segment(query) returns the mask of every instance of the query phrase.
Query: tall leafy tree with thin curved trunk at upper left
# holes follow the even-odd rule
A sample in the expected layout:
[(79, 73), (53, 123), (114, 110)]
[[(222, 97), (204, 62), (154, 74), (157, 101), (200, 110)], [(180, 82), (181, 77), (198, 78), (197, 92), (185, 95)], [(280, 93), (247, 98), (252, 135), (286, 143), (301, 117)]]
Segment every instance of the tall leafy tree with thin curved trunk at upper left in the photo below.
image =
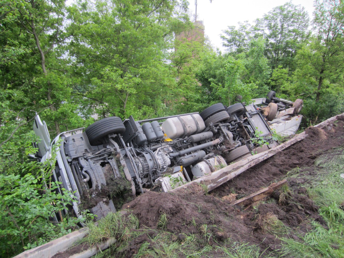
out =
[[(67, 102), (71, 88), (63, 44), (71, 31), (64, 1), (6, 0), (2, 4), (7, 11), (1, 16), (0, 28), (1, 90), (11, 101), (12, 95), (6, 92), (14, 90), (22, 96), (11, 108), (22, 110), (21, 119), (44, 109), (41, 117), (54, 133), (61, 125), (76, 124), (76, 107)], [(64, 120), (66, 109), (71, 110), (68, 121)]]

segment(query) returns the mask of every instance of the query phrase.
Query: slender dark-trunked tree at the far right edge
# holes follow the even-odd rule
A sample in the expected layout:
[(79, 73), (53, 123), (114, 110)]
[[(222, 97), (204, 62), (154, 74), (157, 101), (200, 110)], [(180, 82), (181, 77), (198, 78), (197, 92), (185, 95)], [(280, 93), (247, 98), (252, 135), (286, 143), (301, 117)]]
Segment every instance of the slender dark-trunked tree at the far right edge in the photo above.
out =
[(289, 91), (302, 96), (308, 123), (324, 120), (344, 111), (343, 107), (343, 4), (337, 0), (315, 2), (315, 33), (295, 60), (298, 68)]

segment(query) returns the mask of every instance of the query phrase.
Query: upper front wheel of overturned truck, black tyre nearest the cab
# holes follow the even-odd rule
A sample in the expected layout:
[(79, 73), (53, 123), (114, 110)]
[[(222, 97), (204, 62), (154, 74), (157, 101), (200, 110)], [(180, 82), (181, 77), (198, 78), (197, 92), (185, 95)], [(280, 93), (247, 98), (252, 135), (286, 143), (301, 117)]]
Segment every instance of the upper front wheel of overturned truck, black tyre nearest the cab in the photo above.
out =
[(107, 117), (101, 119), (86, 128), (85, 133), (89, 143), (93, 146), (99, 145), (101, 138), (111, 133), (123, 133), (126, 131), (122, 119), (119, 117)]

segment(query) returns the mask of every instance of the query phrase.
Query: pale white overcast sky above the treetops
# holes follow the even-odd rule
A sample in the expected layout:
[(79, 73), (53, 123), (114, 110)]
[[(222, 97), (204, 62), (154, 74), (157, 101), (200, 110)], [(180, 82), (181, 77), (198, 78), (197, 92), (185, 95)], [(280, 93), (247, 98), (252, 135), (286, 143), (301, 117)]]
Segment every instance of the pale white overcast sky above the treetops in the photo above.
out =
[[(308, 11), (310, 18), (313, 13), (314, 0), (292, 0), (295, 5), (301, 4)], [(195, 13), (195, 0), (189, 0), (189, 9)], [(237, 26), (238, 22), (249, 21), (253, 23), (261, 18), (272, 8), (281, 6), (288, 0), (197, 0), (197, 20), (203, 20), (205, 34), (209, 37), (212, 45), (218, 47), (222, 52), (222, 40), (220, 34), (227, 26)]]

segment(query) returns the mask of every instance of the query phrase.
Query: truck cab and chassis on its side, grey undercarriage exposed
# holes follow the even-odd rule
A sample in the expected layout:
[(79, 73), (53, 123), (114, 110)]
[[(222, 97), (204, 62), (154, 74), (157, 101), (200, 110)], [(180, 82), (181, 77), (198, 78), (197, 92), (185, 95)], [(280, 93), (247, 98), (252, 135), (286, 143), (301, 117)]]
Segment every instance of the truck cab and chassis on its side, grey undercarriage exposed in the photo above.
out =
[(36, 143), (37, 157), (48, 160), (58, 142), (53, 180), (60, 182), (61, 194), (63, 188), (74, 194), (74, 201), (53, 219), (61, 221), (67, 213), (80, 217), (84, 209), (100, 219), (116, 210), (121, 196), (167, 192), (276, 146), (262, 113), (242, 103), (217, 103), (201, 113), (148, 120), (108, 117), (85, 130), (63, 132), (52, 142), (45, 122), (36, 116), (34, 131), (42, 139)]

